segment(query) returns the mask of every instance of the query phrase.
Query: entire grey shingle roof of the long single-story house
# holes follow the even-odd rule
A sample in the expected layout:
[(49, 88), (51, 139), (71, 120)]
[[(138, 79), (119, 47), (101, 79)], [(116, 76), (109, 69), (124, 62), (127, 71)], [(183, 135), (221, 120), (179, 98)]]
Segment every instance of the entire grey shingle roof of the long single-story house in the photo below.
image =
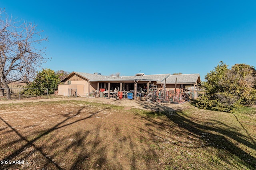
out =
[(141, 75), (141, 76), (103, 76), (99, 74), (90, 74), (84, 72), (72, 72), (66, 78), (61, 80), (64, 82), (70, 76), (78, 74), (83, 78), (89, 80), (90, 82), (99, 82), (99, 81), (156, 81), (157, 83), (164, 83), (164, 78), (166, 78), (166, 84), (175, 84), (175, 78), (177, 77), (177, 83), (182, 84), (197, 84), (201, 82), (199, 74), (152, 74), (152, 75)]

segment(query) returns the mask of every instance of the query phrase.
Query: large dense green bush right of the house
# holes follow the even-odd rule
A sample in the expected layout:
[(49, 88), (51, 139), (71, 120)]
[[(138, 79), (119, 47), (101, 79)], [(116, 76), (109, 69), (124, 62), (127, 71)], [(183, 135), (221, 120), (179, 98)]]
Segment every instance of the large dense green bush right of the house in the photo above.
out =
[(196, 104), (199, 108), (232, 112), (256, 101), (256, 70), (247, 64), (232, 68), (222, 61), (206, 75), (205, 95)]

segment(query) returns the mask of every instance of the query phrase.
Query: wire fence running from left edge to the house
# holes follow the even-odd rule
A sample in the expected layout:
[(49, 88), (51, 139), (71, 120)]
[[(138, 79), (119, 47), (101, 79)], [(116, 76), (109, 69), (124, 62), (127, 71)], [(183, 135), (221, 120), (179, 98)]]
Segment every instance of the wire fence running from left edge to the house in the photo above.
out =
[[(6, 88), (0, 88), (0, 98), (6, 97)], [(9, 88), (12, 99), (34, 98), (60, 98), (60, 97), (77, 97), (76, 88)], [(62, 95), (58, 95), (58, 90), (62, 90)], [(3, 91), (3, 92), (2, 92)]]

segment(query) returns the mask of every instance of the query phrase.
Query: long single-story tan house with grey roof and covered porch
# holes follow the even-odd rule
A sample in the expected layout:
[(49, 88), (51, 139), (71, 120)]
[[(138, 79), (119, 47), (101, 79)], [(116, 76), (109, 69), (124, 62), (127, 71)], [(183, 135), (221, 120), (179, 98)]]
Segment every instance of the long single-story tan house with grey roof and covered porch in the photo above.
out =
[[(115, 88), (119, 91), (134, 90), (149, 92), (152, 88), (159, 90), (163, 84), (166, 84), (166, 90), (183, 90), (185, 86), (198, 86), (201, 83), (199, 74), (135, 74), (134, 76), (103, 76), (100, 73), (72, 72), (58, 84), (58, 94), (63, 96), (90, 96), (94, 90), (104, 89), (110, 91)], [(136, 98), (136, 95), (134, 96)]]

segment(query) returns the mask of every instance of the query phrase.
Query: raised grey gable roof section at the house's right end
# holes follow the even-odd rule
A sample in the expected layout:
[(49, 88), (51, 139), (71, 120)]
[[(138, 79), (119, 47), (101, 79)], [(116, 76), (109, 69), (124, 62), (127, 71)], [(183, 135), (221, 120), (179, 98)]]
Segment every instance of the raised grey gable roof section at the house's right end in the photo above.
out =
[[(178, 84), (198, 84), (201, 83), (200, 74), (176, 74), (166, 78), (166, 84), (175, 84), (177, 77)], [(160, 82), (164, 83), (164, 79)]]

